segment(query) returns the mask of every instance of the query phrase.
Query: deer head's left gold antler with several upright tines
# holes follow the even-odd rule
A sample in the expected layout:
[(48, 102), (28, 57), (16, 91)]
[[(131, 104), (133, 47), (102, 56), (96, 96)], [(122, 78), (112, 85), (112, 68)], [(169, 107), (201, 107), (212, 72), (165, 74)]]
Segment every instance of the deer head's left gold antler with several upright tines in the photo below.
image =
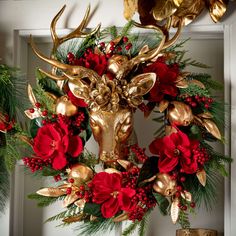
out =
[[(71, 33), (69, 33), (68, 35), (59, 38), (58, 35), (56, 34), (56, 23), (58, 21), (58, 19), (60, 18), (60, 16), (62, 15), (62, 13), (65, 10), (65, 5), (62, 7), (62, 9), (57, 13), (57, 15), (53, 18), (52, 23), (51, 23), (51, 35), (52, 35), (52, 39), (53, 39), (53, 49), (52, 49), (52, 53), (51, 53), (51, 58), (48, 58), (47, 56), (44, 56), (41, 52), (39, 52), (39, 50), (36, 48), (34, 42), (33, 42), (33, 38), (30, 35), (30, 44), (31, 47), (34, 51), (34, 53), (43, 61), (47, 62), (48, 64), (50, 64), (51, 66), (53, 66), (54, 68), (58, 68), (63, 70), (64, 72), (66, 72), (67, 74), (72, 74), (72, 75), (77, 75), (80, 78), (83, 77), (89, 77), (91, 79), (91, 81), (96, 81), (97, 79), (100, 79), (100, 76), (93, 70), (87, 69), (85, 67), (82, 66), (72, 66), (72, 65), (68, 65), (68, 64), (64, 64), (58, 60), (56, 60), (53, 56), (53, 54), (56, 52), (58, 46), (62, 43), (64, 43), (65, 41), (72, 39), (72, 38), (85, 38), (88, 36), (92, 36), (94, 34), (96, 34), (101, 25), (99, 24), (94, 30), (92, 30), (89, 33), (85, 33), (82, 30), (84, 29), (84, 27), (86, 26), (86, 24), (88, 23), (88, 17), (89, 17), (89, 12), (90, 12), (90, 6), (88, 6), (85, 16), (81, 22), (81, 24)], [(40, 69), (41, 72), (43, 72), (44, 74), (46, 74), (47, 76), (49, 76), (50, 78), (52, 78), (53, 80), (66, 80), (68, 79), (68, 77), (66, 76), (58, 76), (56, 75), (56, 73), (49, 73), (46, 72), (42, 69)], [(70, 80), (70, 78), (69, 78)]]

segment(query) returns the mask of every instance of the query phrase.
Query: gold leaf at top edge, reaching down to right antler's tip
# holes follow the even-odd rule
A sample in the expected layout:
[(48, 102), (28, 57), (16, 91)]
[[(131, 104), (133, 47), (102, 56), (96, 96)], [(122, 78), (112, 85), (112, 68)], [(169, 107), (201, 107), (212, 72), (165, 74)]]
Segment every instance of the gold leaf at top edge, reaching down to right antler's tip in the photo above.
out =
[(205, 8), (204, 0), (183, 0), (172, 17), (172, 25), (177, 27), (181, 18), (184, 25), (191, 23)]

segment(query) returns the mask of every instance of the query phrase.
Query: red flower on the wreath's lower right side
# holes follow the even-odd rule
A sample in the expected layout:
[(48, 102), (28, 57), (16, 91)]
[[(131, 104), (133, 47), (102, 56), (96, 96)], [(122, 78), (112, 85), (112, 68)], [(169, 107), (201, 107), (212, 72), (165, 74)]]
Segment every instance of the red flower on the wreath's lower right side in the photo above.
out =
[(159, 155), (158, 168), (160, 172), (170, 172), (180, 164), (181, 172), (196, 173), (198, 164), (192, 150), (199, 146), (198, 141), (190, 141), (181, 131), (164, 138), (155, 139), (149, 146), (153, 154)]

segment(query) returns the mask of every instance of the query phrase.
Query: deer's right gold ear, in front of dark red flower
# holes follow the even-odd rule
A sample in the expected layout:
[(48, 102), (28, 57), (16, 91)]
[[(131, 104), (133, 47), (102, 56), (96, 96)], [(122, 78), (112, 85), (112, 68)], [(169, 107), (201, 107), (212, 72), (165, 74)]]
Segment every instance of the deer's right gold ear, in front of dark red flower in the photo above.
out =
[(128, 102), (131, 106), (137, 107), (142, 103), (143, 95), (147, 94), (156, 82), (155, 73), (144, 73), (135, 76), (127, 86)]

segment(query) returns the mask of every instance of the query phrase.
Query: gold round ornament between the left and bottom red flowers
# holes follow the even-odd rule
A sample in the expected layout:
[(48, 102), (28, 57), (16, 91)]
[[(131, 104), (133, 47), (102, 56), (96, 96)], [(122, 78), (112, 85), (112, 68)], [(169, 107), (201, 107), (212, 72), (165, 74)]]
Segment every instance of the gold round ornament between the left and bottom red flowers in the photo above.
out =
[(81, 186), (92, 178), (93, 171), (84, 164), (75, 164), (68, 170), (68, 179), (73, 179), (76, 186)]

